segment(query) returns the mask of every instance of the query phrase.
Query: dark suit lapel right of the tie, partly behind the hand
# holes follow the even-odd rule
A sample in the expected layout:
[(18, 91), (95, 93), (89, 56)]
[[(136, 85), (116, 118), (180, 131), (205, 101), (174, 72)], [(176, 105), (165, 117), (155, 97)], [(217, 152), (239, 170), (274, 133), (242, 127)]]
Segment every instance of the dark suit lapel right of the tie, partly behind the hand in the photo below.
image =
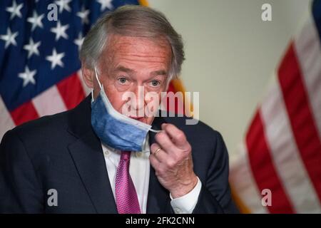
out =
[[(156, 117), (153, 121), (152, 128), (161, 130), (162, 123), (165, 123), (165, 120), (161, 117)], [(155, 135), (156, 133), (149, 133), (150, 146), (155, 142)], [(168, 190), (165, 190), (160, 182), (158, 182), (155, 170), (152, 166), (150, 170), (146, 213), (171, 213), (169, 192)]]

